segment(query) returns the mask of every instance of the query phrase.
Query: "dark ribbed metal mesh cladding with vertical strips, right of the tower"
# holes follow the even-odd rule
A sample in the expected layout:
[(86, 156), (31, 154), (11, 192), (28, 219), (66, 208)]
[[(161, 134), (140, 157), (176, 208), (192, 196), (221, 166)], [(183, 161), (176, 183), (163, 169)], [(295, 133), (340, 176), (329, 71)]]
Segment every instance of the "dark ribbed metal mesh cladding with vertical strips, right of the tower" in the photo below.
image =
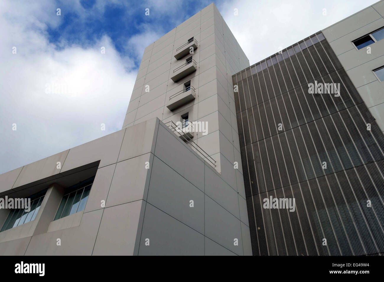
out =
[(384, 136), (323, 34), (232, 78), (253, 254), (384, 254)]

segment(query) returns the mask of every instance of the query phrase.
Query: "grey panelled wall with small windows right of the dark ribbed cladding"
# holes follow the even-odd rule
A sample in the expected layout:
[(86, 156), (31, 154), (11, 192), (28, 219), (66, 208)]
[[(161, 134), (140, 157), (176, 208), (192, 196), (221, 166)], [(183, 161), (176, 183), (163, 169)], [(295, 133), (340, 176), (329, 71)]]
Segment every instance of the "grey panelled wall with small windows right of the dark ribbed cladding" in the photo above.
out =
[(384, 27), (384, 1), (323, 30), (323, 34), (351, 78), (362, 99), (384, 131), (384, 82), (377, 80), (373, 69), (384, 66), (384, 40), (358, 50), (352, 41)]

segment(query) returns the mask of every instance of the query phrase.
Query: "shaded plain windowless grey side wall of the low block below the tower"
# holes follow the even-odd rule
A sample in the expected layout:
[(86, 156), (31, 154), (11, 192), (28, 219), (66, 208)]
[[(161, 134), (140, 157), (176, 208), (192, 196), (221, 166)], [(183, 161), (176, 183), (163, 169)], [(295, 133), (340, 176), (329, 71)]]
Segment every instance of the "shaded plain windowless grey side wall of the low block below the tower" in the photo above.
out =
[(242, 195), (160, 123), (139, 255), (252, 255)]

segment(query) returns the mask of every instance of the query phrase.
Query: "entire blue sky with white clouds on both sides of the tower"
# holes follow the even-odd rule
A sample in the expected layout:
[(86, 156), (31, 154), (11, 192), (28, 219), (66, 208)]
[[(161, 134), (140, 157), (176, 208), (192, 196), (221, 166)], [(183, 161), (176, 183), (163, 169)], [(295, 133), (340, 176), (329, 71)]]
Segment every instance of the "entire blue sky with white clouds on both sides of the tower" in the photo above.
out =
[[(254, 64), (375, 2), (215, 5)], [(120, 130), (144, 48), (210, 3), (1, 0), (0, 173)]]

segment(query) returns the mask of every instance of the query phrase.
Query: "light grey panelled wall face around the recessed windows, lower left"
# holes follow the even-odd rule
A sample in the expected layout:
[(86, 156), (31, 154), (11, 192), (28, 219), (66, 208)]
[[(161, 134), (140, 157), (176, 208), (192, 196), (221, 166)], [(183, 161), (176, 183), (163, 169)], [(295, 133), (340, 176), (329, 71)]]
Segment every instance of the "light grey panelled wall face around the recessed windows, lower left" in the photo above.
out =
[[(50, 187), (35, 220), (0, 233), (0, 254), (137, 254), (142, 199), (151, 172), (145, 165), (153, 160), (158, 124), (148, 120), (0, 175), (2, 196), (27, 197)], [(63, 187), (94, 175), (84, 211), (53, 221)], [(2, 224), (5, 217), (1, 219)]]

